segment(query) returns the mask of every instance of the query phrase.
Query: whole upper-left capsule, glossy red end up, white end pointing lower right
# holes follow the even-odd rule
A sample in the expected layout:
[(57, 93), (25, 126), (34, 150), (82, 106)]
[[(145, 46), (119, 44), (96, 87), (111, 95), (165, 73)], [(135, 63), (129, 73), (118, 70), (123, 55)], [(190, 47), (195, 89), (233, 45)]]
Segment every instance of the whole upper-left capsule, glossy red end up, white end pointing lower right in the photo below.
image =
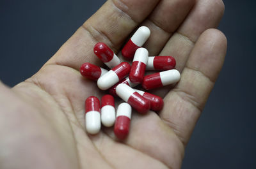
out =
[(94, 54), (99, 57), (110, 69), (120, 64), (120, 59), (105, 43), (99, 42), (93, 48)]

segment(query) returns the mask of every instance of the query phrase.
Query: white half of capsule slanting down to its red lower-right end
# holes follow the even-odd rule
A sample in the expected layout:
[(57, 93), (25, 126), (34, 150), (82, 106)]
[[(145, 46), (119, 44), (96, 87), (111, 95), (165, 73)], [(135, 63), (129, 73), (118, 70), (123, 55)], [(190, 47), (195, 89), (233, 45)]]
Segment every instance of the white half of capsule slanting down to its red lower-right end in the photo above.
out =
[(128, 101), (130, 96), (134, 93), (134, 89), (132, 89), (129, 85), (126, 84), (118, 84), (116, 86), (116, 94), (125, 102)]

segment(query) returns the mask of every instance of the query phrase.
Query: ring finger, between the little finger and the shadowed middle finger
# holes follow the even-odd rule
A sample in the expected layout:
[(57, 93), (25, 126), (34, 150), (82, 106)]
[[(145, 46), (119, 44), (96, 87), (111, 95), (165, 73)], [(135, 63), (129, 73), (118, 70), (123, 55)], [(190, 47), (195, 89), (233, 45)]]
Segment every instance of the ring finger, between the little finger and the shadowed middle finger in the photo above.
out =
[(182, 71), (195, 41), (206, 29), (217, 27), (223, 15), (221, 0), (197, 0), (188, 17), (172, 38), (166, 43), (160, 55), (172, 55), (176, 68)]

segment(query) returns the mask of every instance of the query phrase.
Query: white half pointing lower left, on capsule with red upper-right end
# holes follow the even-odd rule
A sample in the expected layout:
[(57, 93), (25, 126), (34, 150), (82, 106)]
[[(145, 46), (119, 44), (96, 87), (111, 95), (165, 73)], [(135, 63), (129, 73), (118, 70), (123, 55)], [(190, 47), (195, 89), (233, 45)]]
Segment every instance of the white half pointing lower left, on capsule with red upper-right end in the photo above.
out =
[(115, 85), (117, 82), (119, 82), (119, 78), (116, 75), (115, 71), (109, 70), (98, 79), (97, 85), (101, 90), (105, 91), (111, 86)]

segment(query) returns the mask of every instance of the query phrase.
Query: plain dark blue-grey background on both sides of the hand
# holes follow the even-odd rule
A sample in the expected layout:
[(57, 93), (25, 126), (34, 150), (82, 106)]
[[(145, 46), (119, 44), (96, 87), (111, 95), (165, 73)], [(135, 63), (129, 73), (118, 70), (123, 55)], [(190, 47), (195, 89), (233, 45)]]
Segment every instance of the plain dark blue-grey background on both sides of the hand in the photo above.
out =
[[(103, 2), (0, 0), (0, 79), (13, 86), (36, 73)], [(183, 169), (256, 168), (255, 2), (224, 1), (227, 57)]]

